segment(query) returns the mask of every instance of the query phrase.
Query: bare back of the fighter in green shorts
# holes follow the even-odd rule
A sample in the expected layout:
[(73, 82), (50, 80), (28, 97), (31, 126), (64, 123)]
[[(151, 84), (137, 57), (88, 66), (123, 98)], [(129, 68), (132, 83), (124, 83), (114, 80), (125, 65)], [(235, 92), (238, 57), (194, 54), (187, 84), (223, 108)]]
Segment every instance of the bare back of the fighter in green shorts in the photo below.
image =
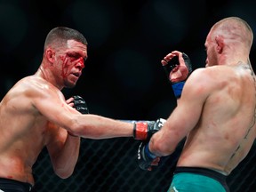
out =
[(255, 139), (255, 76), (247, 64), (204, 68), (196, 73), (204, 76), (196, 80), (201, 115), (188, 134), (178, 165), (230, 173)]

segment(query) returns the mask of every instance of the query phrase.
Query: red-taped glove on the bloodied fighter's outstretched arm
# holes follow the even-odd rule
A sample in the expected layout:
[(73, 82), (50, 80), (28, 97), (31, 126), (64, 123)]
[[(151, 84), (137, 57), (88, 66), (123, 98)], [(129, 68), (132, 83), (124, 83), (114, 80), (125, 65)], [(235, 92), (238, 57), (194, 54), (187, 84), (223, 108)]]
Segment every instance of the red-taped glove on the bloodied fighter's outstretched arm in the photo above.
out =
[(156, 121), (135, 122), (133, 138), (135, 140), (149, 140), (154, 133), (162, 128), (165, 122), (166, 120), (163, 118), (159, 118)]

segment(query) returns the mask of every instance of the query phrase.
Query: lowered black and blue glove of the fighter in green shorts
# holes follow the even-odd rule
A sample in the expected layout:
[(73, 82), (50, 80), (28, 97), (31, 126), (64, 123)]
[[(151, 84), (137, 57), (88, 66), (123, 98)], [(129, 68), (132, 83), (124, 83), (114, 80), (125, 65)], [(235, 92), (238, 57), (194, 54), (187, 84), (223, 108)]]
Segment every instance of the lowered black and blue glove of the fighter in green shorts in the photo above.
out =
[(138, 148), (138, 164), (140, 169), (148, 170), (152, 166), (152, 162), (156, 155), (151, 153), (148, 149), (148, 142), (141, 142)]

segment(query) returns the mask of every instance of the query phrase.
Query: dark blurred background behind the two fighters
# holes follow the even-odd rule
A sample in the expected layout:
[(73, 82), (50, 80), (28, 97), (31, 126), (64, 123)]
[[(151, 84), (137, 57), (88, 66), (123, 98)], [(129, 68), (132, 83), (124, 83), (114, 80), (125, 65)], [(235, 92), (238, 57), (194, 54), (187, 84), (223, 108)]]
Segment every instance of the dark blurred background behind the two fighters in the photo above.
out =
[[(42, 60), (45, 36), (52, 28), (66, 26), (82, 32), (89, 43), (84, 75), (76, 88), (63, 90), (67, 98), (81, 95), (90, 113), (100, 116), (134, 120), (167, 118), (176, 100), (160, 60), (168, 52), (179, 50), (188, 54), (194, 69), (203, 68), (204, 41), (212, 25), (224, 17), (238, 16), (249, 23), (255, 34), (255, 9), (256, 2), (249, 0), (222, 0), (221, 3), (206, 0), (0, 0), (0, 96), (3, 98), (21, 77), (36, 72)], [(252, 68), (255, 68), (255, 53), (254, 43)], [(138, 144), (138, 141), (123, 138), (83, 140), (78, 168), (68, 180), (52, 176), (47, 153), (43, 151), (35, 165), (36, 188), (60, 191), (62, 186), (61, 191), (78, 192), (166, 191), (172, 179), (172, 156), (164, 160), (170, 162), (163, 163), (158, 171), (142, 172), (136, 164)], [(93, 164), (98, 168), (91, 170)], [(116, 164), (122, 166), (116, 167)], [(229, 179), (234, 186), (232, 191), (246, 191), (235, 189), (241, 182), (239, 172), (244, 168), (239, 169)], [(96, 175), (98, 179), (92, 181)], [(109, 177), (114, 178), (109, 180)], [(116, 182), (116, 186), (111, 187), (105, 182), (106, 178), (109, 183)], [(139, 178), (141, 182), (135, 180)], [(49, 183), (50, 180), (53, 181)], [(246, 185), (239, 183), (241, 188), (256, 191), (255, 185), (244, 182)], [(152, 183), (157, 186), (155, 190)]]

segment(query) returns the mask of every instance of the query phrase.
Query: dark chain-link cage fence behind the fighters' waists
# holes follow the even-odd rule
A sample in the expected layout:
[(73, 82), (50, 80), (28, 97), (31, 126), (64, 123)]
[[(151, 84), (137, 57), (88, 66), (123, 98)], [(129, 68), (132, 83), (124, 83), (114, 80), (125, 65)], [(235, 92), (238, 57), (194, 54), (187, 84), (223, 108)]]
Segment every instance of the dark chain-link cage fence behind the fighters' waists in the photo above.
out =
[[(182, 141), (183, 142), (183, 141)], [(52, 170), (46, 148), (34, 165), (36, 192), (164, 192), (172, 181), (172, 172), (182, 142), (171, 156), (165, 156), (153, 171), (140, 170), (137, 162), (139, 140), (117, 138), (81, 140), (75, 172), (60, 179)], [(256, 153), (254, 143), (248, 156), (228, 176), (230, 192), (256, 191)]]

